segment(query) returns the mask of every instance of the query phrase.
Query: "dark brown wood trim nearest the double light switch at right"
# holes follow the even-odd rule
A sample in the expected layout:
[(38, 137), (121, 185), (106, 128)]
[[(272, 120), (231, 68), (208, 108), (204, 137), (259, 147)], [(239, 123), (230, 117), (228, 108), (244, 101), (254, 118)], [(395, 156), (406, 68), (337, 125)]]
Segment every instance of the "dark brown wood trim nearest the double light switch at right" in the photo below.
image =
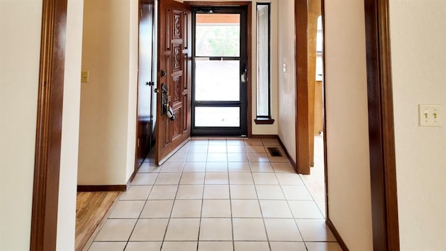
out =
[(374, 250), (399, 250), (388, 0), (364, 1)]

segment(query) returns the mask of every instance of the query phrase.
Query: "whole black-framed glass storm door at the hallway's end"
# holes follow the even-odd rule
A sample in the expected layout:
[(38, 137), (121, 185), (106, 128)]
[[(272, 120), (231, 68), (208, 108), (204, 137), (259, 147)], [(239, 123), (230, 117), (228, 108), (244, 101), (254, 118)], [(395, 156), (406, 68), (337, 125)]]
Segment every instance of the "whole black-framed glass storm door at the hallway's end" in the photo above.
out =
[(192, 135), (246, 135), (246, 11), (196, 8), (192, 23)]

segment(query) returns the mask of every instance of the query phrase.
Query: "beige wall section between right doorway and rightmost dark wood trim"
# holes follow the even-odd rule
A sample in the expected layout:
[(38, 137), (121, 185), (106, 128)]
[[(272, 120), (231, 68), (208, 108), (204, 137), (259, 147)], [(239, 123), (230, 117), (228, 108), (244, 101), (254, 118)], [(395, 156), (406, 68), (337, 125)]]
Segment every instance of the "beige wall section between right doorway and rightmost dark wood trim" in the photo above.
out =
[(350, 250), (372, 250), (364, 2), (325, 0), (328, 208)]

